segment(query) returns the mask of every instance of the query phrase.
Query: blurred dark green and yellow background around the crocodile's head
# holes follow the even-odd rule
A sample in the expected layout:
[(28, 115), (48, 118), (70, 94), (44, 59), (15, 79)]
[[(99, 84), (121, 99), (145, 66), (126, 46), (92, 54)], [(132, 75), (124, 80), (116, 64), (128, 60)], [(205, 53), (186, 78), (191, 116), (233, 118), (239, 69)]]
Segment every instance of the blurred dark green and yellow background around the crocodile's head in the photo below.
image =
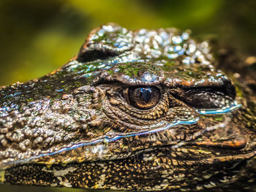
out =
[[(1, 0), (0, 85), (40, 77), (66, 64), (92, 28), (177, 27), (214, 37), (244, 55), (256, 53), (255, 0)], [(0, 185), (0, 191), (74, 191)]]

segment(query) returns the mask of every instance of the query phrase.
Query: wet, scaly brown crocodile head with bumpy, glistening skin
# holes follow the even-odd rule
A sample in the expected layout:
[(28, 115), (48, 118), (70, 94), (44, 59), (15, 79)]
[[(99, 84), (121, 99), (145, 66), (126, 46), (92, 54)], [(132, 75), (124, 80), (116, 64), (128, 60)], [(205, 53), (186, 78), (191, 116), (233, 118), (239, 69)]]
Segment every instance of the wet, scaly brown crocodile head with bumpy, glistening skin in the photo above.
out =
[(255, 80), (190, 33), (108, 23), (60, 69), (1, 87), (0, 182), (252, 191)]

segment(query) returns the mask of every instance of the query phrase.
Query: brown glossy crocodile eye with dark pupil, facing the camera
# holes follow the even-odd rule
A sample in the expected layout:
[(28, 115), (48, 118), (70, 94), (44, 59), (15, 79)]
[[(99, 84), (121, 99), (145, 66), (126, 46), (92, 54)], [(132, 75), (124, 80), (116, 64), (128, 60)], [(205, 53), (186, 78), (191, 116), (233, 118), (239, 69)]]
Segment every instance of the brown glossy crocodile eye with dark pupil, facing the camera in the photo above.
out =
[(156, 87), (127, 88), (127, 92), (129, 103), (140, 110), (154, 107), (160, 98), (160, 91)]

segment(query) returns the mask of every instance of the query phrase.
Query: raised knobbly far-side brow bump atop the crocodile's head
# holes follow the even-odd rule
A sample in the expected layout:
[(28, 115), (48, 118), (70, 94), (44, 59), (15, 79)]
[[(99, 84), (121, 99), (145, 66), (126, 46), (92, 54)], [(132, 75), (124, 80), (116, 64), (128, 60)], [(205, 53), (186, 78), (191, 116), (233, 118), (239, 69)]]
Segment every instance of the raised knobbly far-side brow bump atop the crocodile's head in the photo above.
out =
[(132, 31), (114, 23), (95, 28), (80, 48), (79, 62), (104, 60), (115, 57), (132, 48)]

